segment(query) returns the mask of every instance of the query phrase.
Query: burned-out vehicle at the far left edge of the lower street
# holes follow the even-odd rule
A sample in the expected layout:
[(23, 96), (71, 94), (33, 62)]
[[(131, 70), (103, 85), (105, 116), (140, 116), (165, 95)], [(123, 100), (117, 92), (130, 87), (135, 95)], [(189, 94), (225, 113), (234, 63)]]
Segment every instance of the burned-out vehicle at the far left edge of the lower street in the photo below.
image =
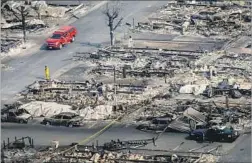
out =
[(1, 122), (28, 123), (32, 116), (25, 109), (8, 109), (1, 111)]

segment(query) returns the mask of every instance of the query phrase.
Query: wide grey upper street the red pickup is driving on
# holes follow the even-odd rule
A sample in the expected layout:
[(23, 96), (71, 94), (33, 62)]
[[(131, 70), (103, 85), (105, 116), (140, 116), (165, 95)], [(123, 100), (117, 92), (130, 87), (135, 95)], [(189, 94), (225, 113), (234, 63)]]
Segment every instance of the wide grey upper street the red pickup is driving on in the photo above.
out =
[[(132, 22), (133, 17), (137, 22), (164, 4), (166, 1), (123, 1), (121, 2), (123, 24)], [(90, 46), (88, 43), (91, 45), (109, 43), (109, 29), (106, 26), (102, 8), (89, 13), (72, 25), (79, 30), (75, 43), (61, 51), (39, 50), (32, 56), (18, 58), (7, 63), (13, 70), (1, 72), (2, 103), (12, 100), (14, 94), (36, 79), (43, 78), (45, 65), (49, 66), (52, 77), (54, 77), (58, 70), (71, 62), (69, 59), (75, 52), (95, 49), (95, 46)], [(118, 32), (123, 32), (123, 28), (119, 27)]]

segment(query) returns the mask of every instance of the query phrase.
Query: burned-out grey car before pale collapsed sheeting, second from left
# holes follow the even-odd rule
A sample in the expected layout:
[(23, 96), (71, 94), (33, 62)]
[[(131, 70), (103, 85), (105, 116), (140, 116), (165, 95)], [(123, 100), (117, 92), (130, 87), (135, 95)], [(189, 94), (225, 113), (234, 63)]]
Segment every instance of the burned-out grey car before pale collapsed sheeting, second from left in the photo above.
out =
[(71, 112), (62, 112), (50, 118), (44, 118), (41, 124), (66, 126), (66, 127), (79, 127), (82, 125), (82, 122), (83, 117)]

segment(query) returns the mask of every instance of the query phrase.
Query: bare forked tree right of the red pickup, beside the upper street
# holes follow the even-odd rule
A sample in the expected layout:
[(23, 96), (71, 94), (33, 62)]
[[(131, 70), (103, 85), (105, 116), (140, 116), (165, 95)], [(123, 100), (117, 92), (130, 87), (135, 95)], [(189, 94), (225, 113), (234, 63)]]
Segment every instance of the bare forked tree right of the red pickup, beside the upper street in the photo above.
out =
[[(111, 5), (111, 6), (109, 6), (107, 4), (105, 10), (103, 11), (103, 14), (106, 15), (108, 18), (111, 46), (113, 46), (115, 44), (114, 31), (121, 24), (121, 22), (123, 20), (123, 18), (120, 18), (117, 23), (114, 22), (119, 17), (119, 13), (120, 13), (120, 8), (119, 8), (118, 3)], [(114, 25), (114, 24), (116, 24), (116, 25)]]

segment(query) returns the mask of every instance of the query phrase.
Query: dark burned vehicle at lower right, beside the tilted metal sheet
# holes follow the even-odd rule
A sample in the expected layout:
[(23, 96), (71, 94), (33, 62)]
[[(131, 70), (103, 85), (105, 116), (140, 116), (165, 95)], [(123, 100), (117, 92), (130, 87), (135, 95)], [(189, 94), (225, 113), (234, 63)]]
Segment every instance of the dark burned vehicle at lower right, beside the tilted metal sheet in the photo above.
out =
[(197, 141), (233, 142), (239, 137), (239, 132), (232, 127), (212, 127), (209, 129), (196, 129), (189, 133), (189, 138)]

